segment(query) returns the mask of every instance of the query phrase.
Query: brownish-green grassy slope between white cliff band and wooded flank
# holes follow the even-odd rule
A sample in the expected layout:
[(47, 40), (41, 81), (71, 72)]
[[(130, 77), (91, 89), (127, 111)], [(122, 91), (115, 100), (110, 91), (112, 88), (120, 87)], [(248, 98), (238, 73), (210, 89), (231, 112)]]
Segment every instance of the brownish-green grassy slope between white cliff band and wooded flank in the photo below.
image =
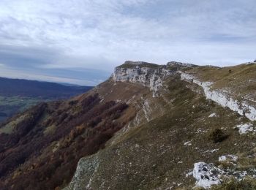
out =
[[(215, 162), (227, 153), (251, 151), (256, 137), (240, 135), (234, 129), (246, 118), (206, 100), (185, 87), (177, 79), (167, 83), (165, 96), (172, 99), (169, 110), (162, 117), (130, 129), (121, 134), (108, 148), (80, 162), (99, 161), (93, 176), (83, 175), (88, 168), (83, 165), (80, 180), (83, 189), (91, 183), (92, 189), (165, 189), (184, 186), (191, 189), (195, 179), (186, 173), (197, 161)], [(217, 113), (217, 118), (208, 118)], [(224, 142), (209, 140), (211, 130), (222, 129), (229, 137)], [(191, 146), (184, 142), (191, 141)], [(213, 151), (217, 149), (217, 151)], [(71, 183), (71, 187), (75, 185)]]

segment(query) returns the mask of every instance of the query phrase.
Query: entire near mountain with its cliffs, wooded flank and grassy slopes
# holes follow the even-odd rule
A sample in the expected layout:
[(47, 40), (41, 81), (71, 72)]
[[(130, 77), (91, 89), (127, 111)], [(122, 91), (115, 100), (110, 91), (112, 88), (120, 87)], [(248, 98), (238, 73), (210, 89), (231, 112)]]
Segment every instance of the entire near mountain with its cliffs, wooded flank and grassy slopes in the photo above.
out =
[(255, 189), (253, 81), (255, 64), (128, 61), (88, 93), (2, 124), (0, 186)]

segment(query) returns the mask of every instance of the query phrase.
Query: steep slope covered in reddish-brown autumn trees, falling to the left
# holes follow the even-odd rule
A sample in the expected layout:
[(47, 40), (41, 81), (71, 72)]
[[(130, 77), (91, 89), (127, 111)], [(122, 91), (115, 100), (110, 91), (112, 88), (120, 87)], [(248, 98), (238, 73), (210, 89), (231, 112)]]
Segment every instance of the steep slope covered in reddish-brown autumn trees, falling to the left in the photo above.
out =
[[(99, 91), (111, 88), (148, 91), (136, 85), (113, 86), (108, 81)], [(135, 116), (134, 107), (106, 94), (103, 100), (97, 91), (39, 104), (1, 125), (1, 189), (55, 189), (67, 184), (78, 160), (104, 148)]]

